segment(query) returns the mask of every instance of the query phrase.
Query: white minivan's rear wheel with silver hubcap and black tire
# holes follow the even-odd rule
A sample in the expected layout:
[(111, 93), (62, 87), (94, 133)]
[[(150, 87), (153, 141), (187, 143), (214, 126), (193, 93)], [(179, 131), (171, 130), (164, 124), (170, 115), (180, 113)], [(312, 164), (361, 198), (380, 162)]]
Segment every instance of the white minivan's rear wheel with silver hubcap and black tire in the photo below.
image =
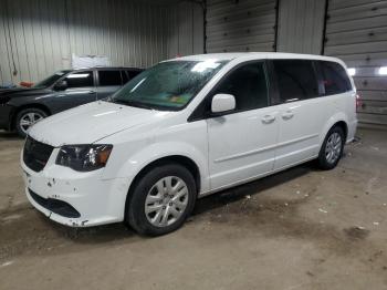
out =
[(336, 167), (343, 156), (345, 134), (339, 126), (334, 126), (326, 134), (318, 154), (318, 166), (324, 170)]

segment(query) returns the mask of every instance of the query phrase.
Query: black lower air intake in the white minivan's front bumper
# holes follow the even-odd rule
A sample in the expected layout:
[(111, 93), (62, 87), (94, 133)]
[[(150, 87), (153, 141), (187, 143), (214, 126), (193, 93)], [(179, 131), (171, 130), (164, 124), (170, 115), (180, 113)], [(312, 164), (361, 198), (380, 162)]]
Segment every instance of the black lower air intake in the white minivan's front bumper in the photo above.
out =
[(30, 188), (29, 193), (33, 200), (36, 201), (36, 204), (44, 207), (45, 209), (49, 209), (52, 213), (67, 218), (81, 217), (81, 214), (73, 206), (69, 205), (63, 200), (41, 197), (40, 195), (36, 195), (34, 191), (32, 191)]

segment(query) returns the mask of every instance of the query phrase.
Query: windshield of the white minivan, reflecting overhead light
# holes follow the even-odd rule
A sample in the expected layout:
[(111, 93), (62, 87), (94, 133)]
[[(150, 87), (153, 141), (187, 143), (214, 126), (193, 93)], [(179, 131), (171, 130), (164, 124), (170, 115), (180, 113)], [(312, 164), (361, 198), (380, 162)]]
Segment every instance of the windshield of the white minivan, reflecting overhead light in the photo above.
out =
[(169, 61), (144, 71), (116, 92), (111, 102), (177, 111), (203, 87), (224, 61)]

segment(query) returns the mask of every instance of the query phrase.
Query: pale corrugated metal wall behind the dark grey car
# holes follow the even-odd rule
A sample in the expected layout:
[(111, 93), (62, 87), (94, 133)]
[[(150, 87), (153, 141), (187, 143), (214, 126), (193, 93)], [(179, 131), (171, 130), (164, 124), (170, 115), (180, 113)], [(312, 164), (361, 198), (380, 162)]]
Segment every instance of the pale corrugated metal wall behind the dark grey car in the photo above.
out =
[(146, 68), (202, 53), (202, 10), (188, 1), (0, 0), (0, 84), (71, 68), (71, 55), (107, 55)]

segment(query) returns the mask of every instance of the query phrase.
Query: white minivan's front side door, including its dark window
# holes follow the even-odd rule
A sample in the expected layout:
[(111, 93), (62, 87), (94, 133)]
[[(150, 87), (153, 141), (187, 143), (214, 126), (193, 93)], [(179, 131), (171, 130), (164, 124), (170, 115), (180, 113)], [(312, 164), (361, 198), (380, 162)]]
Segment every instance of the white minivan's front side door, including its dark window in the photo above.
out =
[(218, 93), (232, 94), (236, 110), (207, 120), (211, 189), (272, 172), (279, 131), (263, 61), (232, 70), (211, 94)]

